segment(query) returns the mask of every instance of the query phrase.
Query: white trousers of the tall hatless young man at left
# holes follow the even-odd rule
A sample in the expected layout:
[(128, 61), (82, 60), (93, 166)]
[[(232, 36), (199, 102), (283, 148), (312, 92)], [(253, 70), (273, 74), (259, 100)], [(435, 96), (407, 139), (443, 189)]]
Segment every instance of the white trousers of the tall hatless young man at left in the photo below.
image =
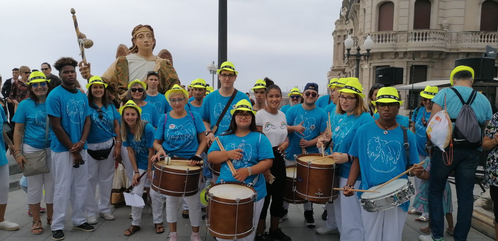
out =
[(88, 187), (88, 158), (87, 150), (81, 150), (85, 164), (78, 168), (73, 167), (73, 155), (69, 151), (52, 151), (52, 174), (55, 180), (54, 214), (52, 231), (64, 229), (66, 212), (71, 201), (71, 222), (79, 226), (86, 222), (85, 201)]

